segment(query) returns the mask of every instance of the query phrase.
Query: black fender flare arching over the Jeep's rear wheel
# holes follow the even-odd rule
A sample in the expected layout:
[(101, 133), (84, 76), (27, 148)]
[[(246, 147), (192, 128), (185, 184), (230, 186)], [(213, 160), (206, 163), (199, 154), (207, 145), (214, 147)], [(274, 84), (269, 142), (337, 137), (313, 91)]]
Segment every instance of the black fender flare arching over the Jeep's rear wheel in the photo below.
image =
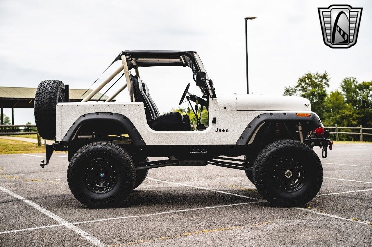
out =
[(71, 141), (83, 123), (96, 120), (109, 120), (118, 122), (123, 127), (123, 129), (128, 133), (134, 146), (146, 145), (137, 128), (135, 128), (135, 126), (133, 125), (132, 121), (129, 120), (129, 118), (119, 113), (110, 112), (94, 112), (80, 116), (78, 119), (76, 119), (76, 121), (73, 123), (70, 129), (68, 129), (67, 133), (62, 138), (62, 141), (65, 142)]

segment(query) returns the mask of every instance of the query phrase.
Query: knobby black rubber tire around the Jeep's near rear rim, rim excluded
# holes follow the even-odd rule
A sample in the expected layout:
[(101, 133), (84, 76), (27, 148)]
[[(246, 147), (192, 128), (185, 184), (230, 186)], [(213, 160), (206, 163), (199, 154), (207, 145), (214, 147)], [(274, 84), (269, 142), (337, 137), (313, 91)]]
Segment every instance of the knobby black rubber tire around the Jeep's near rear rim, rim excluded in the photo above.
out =
[[(86, 183), (84, 173), (94, 159), (106, 159), (116, 164), (116, 183), (107, 192), (93, 192)], [(94, 165), (93, 165), (94, 166)], [(87, 168), (87, 170), (85, 169)], [(93, 169), (93, 168), (92, 168)], [(115, 207), (132, 191), (136, 181), (135, 163), (121, 146), (110, 142), (93, 142), (80, 148), (71, 158), (67, 170), (68, 186), (74, 197), (92, 208)]]

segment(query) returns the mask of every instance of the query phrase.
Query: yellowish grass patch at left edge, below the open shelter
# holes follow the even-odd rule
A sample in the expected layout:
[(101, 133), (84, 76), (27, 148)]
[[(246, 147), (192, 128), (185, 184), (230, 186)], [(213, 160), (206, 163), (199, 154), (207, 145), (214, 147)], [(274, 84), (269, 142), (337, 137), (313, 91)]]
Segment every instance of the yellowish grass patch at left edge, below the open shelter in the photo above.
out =
[(44, 145), (10, 139), (0, 139), (0, 154), (44, 153)]

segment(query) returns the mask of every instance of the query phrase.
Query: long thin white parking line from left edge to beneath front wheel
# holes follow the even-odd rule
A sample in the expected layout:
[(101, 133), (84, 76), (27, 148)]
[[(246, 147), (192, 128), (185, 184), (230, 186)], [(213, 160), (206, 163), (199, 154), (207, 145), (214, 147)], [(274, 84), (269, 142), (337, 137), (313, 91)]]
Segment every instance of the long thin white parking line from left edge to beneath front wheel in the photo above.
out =
[[(264, 201), (242, 202), (242, 203), (234, 203), (234, 204), (218, 205), (218, 206), (202, 207), (202, 208), (187, 208), (187, 209), (173, 210), (173, 211), (153, 213), (153, 214), (132, 215), (132, 216), (122, 216), (122, 217), (115, 217), (115, 218), (104, 218), (104, 219), (98, 219), (98, 220), (78, 221), (78, 222), (69, 223), (69, 224), (70, 225), (76, 225), (76, 224), (93, 223), (93, 222), (100, 222), (100, 221), (107, 221), (107, 220), (119, 220), (119, 219), (127, 219), (127, 218), (142, 218), (142, 217), (150, 217), (150, 216), (161, 215), (161, 214), (172, 214), (172, 213), (180, 213), (180, 212), (187, 212), (187, 211), (194, 211), (194, 210), (203, 210), (203, 209), (209, 209), (209, 208), (231, 207), (231, 206), (238, 206), (238, 205), (245, 205), (245, 204), (253, 204), (253, 203), (258, 203), (258, 202), (264, 202)], [(45, 225), (45, 226), (40, 226), (40, 227), (32, 227), (32, 228), (24, 228), (24, 229), (19, 229), (19, 230), (3, 231), (3, 232), (0, 232), (0, 234), (16, 233), (18, 231), (29, 231), (29, 230), (49, 228), (49, 227), (58, 227), (58, 226), (62, 226), (62, 225), (65, 225), (65, 224)]]

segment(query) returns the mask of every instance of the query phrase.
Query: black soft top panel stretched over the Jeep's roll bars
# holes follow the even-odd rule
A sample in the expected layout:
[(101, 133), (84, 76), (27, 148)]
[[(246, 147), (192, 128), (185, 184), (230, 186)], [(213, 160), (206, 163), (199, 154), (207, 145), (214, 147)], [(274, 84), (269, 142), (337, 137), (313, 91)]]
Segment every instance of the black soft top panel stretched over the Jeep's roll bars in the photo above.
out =
[[(122, 51), (115, 60), (111, 63), (115, 63), (121, 60), (121, 56), (129, 56), (131, 59), (136, 60), (138, 67), (147, 66), (187, 66), (190, 60), (194, 60), (194, 54), (192, 51), (179, 51), (179, 50), (125, 50)], [(155, 60), (155, 59), (180, 59), (182, 60)], [(137, 60), (140, 59), (140, 60)], [(148, 60), (146, 60), (148, 59)], [(131, 63), (128, 63), (129, 69)]]

